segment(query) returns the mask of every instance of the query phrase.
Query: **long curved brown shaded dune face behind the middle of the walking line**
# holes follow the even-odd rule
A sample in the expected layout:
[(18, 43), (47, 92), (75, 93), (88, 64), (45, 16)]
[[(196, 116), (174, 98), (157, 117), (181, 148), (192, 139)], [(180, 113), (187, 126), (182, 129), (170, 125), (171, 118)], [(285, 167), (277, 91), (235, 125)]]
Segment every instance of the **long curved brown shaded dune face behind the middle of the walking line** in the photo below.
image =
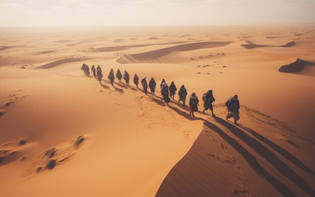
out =
[(230, 43), (231, 42), (198, 42), (198, 43), (177, 45), (173, 47), (167, 47), (167, 48), (139, 53), (139, 54), (124, 55), (123, 57), (119, 58), (117, 62), (121, 64), (128, 64), (128, 62), (134, 62), (134, 60), (158, 59), (174, 51), (193, 51), (197, 49), (216, 48), (216, 47), (226, 46)]

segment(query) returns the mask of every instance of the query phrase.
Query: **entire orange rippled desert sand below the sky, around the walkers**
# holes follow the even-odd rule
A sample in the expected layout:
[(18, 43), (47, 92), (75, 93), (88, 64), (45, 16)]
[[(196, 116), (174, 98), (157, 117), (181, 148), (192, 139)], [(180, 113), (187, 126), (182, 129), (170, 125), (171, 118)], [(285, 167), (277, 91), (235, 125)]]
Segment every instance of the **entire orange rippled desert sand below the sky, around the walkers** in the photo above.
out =
[[(0, 31), (0, 196), (315, 196), (314, 26)], [(197, 117), (135, 73), (184, 84)]]

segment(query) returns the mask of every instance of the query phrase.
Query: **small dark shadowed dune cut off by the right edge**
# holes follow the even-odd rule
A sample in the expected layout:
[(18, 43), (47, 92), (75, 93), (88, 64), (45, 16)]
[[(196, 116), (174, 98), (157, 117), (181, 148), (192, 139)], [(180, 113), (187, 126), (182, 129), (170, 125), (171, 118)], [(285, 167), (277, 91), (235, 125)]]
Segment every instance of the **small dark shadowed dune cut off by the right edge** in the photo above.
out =
[(281, 66), (279, 72), (315, 76), (315, 63), (296, 59), (296, 61), (291, 64)]

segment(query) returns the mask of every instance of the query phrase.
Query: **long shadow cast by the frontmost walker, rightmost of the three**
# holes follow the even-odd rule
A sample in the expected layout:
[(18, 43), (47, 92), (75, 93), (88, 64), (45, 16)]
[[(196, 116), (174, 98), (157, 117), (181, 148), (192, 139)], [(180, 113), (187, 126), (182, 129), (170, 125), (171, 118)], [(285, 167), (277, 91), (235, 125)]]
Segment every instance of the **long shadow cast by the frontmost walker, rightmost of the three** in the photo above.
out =
[(256, 131), (254, 131), (254, 130), (246, 127), (246, 126), (243, 126), (243, 125), (240, 125), (240, 126), (243, 129), (245, 129), (248, 132), (250, 132), (252, 135), (254, 135), (257, 139), (261, 140), (262, 142), (264, 142), (265, 144), (270, 146), (272, 149), (277, 151), (279, 154), (281, 154), (282, 156), (287, 158), (289, 161), (294, 163), (296, 166), (298, 166), (299, 168), (304, 170), (306, 173), (315, 175), (315, 172), (313, 170), (311, 170), (309, 167), (307, 167), (304, 163), (302, 163), (300, 160), (298, 160), (296, 157), (294, 157), (290, 152), (288, 152), (284, 148), (282, 148), (279, 145), (275, 144), (274, 142), (270, 141), (269, 139), (267, 139), (266, 137), (264, 137), (261, 134), (257, 133)]

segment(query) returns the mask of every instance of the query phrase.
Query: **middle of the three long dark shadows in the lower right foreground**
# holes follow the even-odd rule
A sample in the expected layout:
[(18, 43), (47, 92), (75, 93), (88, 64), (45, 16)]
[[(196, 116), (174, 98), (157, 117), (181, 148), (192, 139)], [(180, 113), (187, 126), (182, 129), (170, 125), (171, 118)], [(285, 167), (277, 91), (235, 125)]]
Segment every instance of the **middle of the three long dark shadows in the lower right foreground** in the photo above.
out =
[[(239, 139), (244, 141), (247, 145), (253, 148), (260, 156), (262, 156), (266, 161), (272, 164), (279, 172), (281, 172), (285, 177), (290, 179), (296, 185), (298, 185), (301, 189), (303, 189), (306, 193), (310, 196), (315, 196), (315, 192), (313, 189), (307, 184), (307, 182), (302, 179), (295, 171), (293, 171), (288, 165), (282, 162), (271, 150), (269, 150), (266, 146), (262, 143), (257, 141), (255, 138), (249, 136), (240, 128), (230, 124), (229, 122), (215, 117), (215, 120), (220, 123), (221, 125), (225, 126), (237, 136)], [(291, 196), (291, 195), (285, 195)]]

